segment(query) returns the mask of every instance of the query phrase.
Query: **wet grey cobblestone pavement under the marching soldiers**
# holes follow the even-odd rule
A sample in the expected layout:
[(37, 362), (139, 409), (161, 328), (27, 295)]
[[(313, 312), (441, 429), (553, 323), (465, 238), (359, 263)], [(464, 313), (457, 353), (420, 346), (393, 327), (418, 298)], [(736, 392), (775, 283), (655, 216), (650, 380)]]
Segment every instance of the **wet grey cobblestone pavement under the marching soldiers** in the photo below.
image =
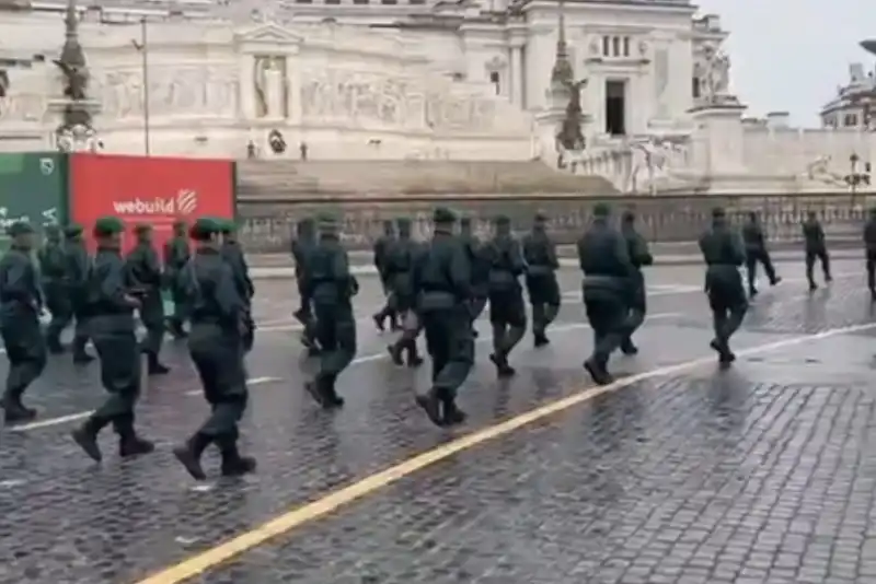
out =
[[(242, 480), (196, 484), (170, 454), (207, 409), (184, 346), (168, 343), (174, 371), (150, 382), (140, 405), (158, 452), (102, 467), (68, 440), (102, 398), (96, 366), (55, 359), (27, 396), (41, 418), (0, 432), (0, 584), (135, 583), (243, 533), (262, 542), (260, 526), (278, 515), (288, 533), (221, 565), (210, 564), (228, 548), (147, 582), (181, 582), (193, 567), (204, 569), (193, 582), (211, 584), (876, 582), (876, 361), (866, 342), (876, 320), (861, 266), (837, 262), (837, 281), (812, 295), (792, 273), (802, 266), (781, 268), (786, 281), (763, 290), (736, 341), (780, 344), (740, 352), (725, 373), (706, 348), (702, 271), (655, 270), (643, 352), (613, 369), (662, 374), (601, 395), (581, 394), (590, 338), (577, 276), (564, 272), (554, 342), (534, 351), (527, 339), (512, 381), (495, 379), (481, 324), (461, 396), (470, 421), (452, 432), (413, 404), (427, 372), (384, 359), (389, 335), (369, 322), (373, 280), (362, 280), (360, 352), (339, 385), (347, 406), (333, 414), (301, 392), (312, 365), (298, 358), (293, 283), (264, 282), (243, 423), (260, 469)], [(671, 369), (702, 357), (707, 364)], [(391, 484), (372, 477), (563, 398), (579, 402)], [(314, 505), (287, 514), (362, 480), (373, 491), (364, 500), (319, 519)]]

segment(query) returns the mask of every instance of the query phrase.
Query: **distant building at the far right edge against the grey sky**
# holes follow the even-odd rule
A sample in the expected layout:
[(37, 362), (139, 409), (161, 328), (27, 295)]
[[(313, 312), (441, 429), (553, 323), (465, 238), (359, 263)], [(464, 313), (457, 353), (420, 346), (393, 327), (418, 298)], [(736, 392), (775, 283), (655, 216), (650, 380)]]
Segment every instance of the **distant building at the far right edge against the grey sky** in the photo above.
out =
[[(876, 40), (861, 46), (876, 55)], [(873, 128), (876, 125), (876, 68), (865, 71), (864, 65), (849, 66), (849, 83), (837, 89), (837, 97), (821, 109), (825, 128)]]

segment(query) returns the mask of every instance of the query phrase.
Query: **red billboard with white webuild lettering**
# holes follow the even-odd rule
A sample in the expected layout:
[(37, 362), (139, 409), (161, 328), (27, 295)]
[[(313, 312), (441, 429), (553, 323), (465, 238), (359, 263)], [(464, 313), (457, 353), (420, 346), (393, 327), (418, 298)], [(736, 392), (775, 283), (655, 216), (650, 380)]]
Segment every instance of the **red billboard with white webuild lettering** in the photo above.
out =
[(227, 160), (73, 154), (70, 218), (91, 232), (101, 217), (125, 222), (124, 250), (135, 243), (134, 225), (148, 223), (161, 253), (173, 222), (204, 215), (234, 217), (234, 163)]

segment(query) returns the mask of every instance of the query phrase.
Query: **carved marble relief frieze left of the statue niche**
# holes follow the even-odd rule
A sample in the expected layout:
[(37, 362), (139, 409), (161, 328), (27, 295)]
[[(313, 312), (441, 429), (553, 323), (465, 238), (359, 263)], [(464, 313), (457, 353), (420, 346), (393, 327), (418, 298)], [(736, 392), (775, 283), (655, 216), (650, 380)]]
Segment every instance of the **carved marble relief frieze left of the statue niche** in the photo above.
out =
[[(114, 119), (143, 115), (142, 72), (107, 71), (97, 79), (103, 113)], [(231, 117), (238, 80), (227, 68), (155, 68), (149, 71), (149, 110), (154, 116)]]

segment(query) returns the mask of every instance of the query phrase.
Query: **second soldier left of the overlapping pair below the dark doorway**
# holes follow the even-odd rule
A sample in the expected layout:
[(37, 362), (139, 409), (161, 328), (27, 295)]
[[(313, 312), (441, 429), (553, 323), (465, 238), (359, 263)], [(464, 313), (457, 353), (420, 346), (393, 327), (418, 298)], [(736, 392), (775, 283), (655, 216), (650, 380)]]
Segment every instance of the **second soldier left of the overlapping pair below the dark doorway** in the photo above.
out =
[(484, 259), (489, 266), (489, 324), (493, 326), (493, 353), (489, 360), (496, 365), (499, 377), (515, 374), (508, 355), (527, 332), (527, 311), (520, 276), (527, 265), (520, 242), (511, 235), (511, 221), (505, 217), (495, 220), (496, 233), (484, 245)]

